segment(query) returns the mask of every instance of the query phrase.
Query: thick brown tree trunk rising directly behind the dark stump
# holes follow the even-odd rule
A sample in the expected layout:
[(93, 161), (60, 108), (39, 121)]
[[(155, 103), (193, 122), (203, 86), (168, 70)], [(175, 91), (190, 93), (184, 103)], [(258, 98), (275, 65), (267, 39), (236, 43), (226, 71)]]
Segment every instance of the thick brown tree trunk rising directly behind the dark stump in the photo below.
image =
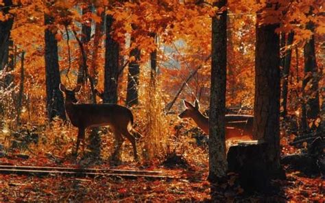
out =
[(255, 99), (253, 137), (267, 143), (266, 163), (270, 176), (282, 171), (280, 166), (280, 41), (277, 24), (256, 22)]

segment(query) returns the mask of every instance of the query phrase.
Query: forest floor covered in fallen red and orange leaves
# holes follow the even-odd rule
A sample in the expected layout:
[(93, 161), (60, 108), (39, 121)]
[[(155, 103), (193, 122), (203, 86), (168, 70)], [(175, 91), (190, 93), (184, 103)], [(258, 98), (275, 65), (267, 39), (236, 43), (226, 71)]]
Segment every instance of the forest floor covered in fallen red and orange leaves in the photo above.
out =
[[(40, 156), (30, 156), (27, 159), (0, 158), (1, 165), (80, 167), (80, 163), (67, 160), (58, 165), (50, 158)], [(99, 160), (91, 167), (111, 168), (105, 160)], [(206, 181), (208, 167), (206, 163), (200, 163), (200, 160), (185, 167), (173, 168), (163, 165), (143, 167), (140, 163), (128, 161), (117, 168), (164, 171), (170, 176), (178, 176), (178, 179), (128, 180), (116, 177), (73, 178), (0, 174), (0, 202), (324, 202), (324, 179), (303, 177), (296, 171), (287, 171), (287, 180), (276, 181), (280, 191), (271, 192), (269, 195), (247, 195), (230, 178), (227, 184), (219, 186), (224, 193), (212, 200), (210, 183)]]

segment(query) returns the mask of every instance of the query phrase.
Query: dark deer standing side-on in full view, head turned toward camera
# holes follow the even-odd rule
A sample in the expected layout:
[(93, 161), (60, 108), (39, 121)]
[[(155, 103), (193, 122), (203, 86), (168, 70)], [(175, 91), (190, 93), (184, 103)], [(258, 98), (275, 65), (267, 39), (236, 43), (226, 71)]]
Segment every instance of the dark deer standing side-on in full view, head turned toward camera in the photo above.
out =
[(113, 157), (119, 154), (123, 144), (123, 136), (132, 143), (134, 159), (138, 160), (136, 152), (136, 136), (142, 136), (133, 128), (133, 114), (130, 109), (117, 104), (77, 104), (75, 94), (79, 93), (81, 86), (76, 86), (73, 90), (67, 89), (64, 84), (60, 84), (60, 91), (64, 93), (64, 106), (67, 115), (73, 126), (78, 128), (75, 154), (77, 154), (80, 142), (84, 148), (84, 136), (87, 128), (100, 126), (110, 126), (110, 130), (115, 136), (117, 146)]

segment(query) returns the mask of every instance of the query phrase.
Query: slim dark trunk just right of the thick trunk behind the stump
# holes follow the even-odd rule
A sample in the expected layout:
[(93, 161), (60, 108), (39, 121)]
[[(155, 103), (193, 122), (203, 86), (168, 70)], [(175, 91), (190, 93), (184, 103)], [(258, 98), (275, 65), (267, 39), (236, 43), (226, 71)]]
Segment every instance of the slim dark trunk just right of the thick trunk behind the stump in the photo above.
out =
[[(288, 34), (287, 38), (287, 46), (292, 45), (293, 43), (293, 32)], [(292, 49), (288, 49), (285, 51), (285, 54), (282, 58), (283, 61), (283, 69), (282, 69), (282, 116), (285, 118), (287, 116), (287, 97), (288, 97), (288, 80), (291, 66), (291, 53)]]

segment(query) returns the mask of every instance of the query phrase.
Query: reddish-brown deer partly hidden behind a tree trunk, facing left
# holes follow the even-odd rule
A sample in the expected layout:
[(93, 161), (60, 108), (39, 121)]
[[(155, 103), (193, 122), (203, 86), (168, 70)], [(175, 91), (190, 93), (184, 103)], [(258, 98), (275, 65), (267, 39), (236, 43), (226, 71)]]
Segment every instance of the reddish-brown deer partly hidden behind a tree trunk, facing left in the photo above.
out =
[[(200, 112), (198, 101), (195, 100), (194, 106), (189, 101), (183, 100), (183, 102), (186, 109), (178, 117), (193, 119), (205, 134), (209, 134), (208, 117)], [(226, 140), (239, 138), (241, 140), (252, 140), (253, 119), (252, 115), (225, 115)]]

